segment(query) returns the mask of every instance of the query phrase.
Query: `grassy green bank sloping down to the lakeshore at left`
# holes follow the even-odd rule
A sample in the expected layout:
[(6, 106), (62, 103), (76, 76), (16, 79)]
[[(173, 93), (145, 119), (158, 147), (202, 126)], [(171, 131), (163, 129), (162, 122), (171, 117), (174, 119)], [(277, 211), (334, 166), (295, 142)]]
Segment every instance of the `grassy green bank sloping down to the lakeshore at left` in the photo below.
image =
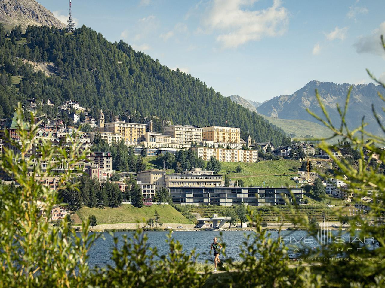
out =
[(118, 208), (83, 207), (76, 214), (82, 221), (91, 215), (95, 215), (98, 224), (115, 224), (146, 222), (149, 218), (154, 218), (155, 210), (158, 211), (160, 221), (163, 223), (192, 223), (170, 205), (152, 205), (151, 207), (142, 208), (136, 208), (129, 204), (123, 204)]

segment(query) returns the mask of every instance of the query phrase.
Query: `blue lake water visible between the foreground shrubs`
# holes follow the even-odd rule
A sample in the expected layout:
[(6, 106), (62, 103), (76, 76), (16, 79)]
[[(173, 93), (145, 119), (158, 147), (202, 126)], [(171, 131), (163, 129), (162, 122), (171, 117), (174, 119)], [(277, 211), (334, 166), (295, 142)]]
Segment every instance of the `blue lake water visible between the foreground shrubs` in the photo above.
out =
[[(338, 232), (338, 231), (335, 231)], [(115, 235), (122, 239), (123, 235), (131, 236), (133, 232), (115, 232)], [(226, 242), (226, 254), (228, 257), (234, 258), (234, 260), (240, 260), (239, 253), (240, 245), (245, 241), (244, 234), (253, 233), (252, 231), (223, 231), (222, 239), (219, 240), (220, 243)], [(278, 238), (278, 231), (270, 231), (271, 238)], [(103, 233), (103, 237), (100, 237), (95, 244), (90, 248), (89, 251), (89, 265), (90, 266), (99, 266), (103, 267), (108, 264), (113, 265), (111, 258), (111, 251), (114, 246), (113, 238), (108, 233)], [(167, 254), (169, 252), (169, 247), (166, 243), (167, 232), (147, 232), (148, 243), (151, 247), (156, 246), (158, 249), (159, 255)], [(191, 251), (196, 249), (196, 253), (199, 253), (198, 261), (204, 262), (206, 260), (212, 260), (213, 256), (209, 254), (210, 246), (213, 242), (213, 238), (219, 237), (218, 231), (174, 231), (172, 237), (175, 240), (178, 240), (183, 245), (184, 251)], [(295, 239), (300, 239), (301, 237), (308, 236), (306, 231), (281, 231), (281, 236), (291, 236)], [(289, 239), (289, 238), (286, 238)], [(288, 241), (286, 241), (288, 242)], [(309, 242), (309, 241), (308, 241)], [(119, 241), (119, 246), (122, 245), (122, 241)], [(299, 245), (302, 249), (303, 247)], [(319, 247), (317, 240), (310, 241), (306, 246)], [(301, 249), (300, 249), (301, 250)], [(294, 248), (289, 252), (290, 258), (295, 258), (298, 256), (294, 252)]]

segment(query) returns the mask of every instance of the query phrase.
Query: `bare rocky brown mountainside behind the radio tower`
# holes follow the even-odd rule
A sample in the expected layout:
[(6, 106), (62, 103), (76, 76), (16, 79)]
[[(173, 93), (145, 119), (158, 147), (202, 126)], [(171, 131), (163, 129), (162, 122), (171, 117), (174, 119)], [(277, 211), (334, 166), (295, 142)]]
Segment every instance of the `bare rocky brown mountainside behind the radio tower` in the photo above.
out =
[(0, 23), (6, 29), (22, 25), (48, 25), (65, 27), (55, 16), (35, 0), (0, 0)]

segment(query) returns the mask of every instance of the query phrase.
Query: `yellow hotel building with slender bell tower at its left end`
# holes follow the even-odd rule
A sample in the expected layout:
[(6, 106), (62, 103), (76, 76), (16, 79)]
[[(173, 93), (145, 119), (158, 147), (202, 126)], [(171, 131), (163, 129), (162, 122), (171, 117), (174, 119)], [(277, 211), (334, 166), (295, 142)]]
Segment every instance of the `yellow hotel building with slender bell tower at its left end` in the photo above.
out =
[(146, 132), (146, 124), (119, 121), (119, 117), (115, 117), (115, 122), (111, 123), (100, 120), (99, 118), (99, 127), (94, 128), (95, 132), (120, 133), (127, 145), (139, 145)]

